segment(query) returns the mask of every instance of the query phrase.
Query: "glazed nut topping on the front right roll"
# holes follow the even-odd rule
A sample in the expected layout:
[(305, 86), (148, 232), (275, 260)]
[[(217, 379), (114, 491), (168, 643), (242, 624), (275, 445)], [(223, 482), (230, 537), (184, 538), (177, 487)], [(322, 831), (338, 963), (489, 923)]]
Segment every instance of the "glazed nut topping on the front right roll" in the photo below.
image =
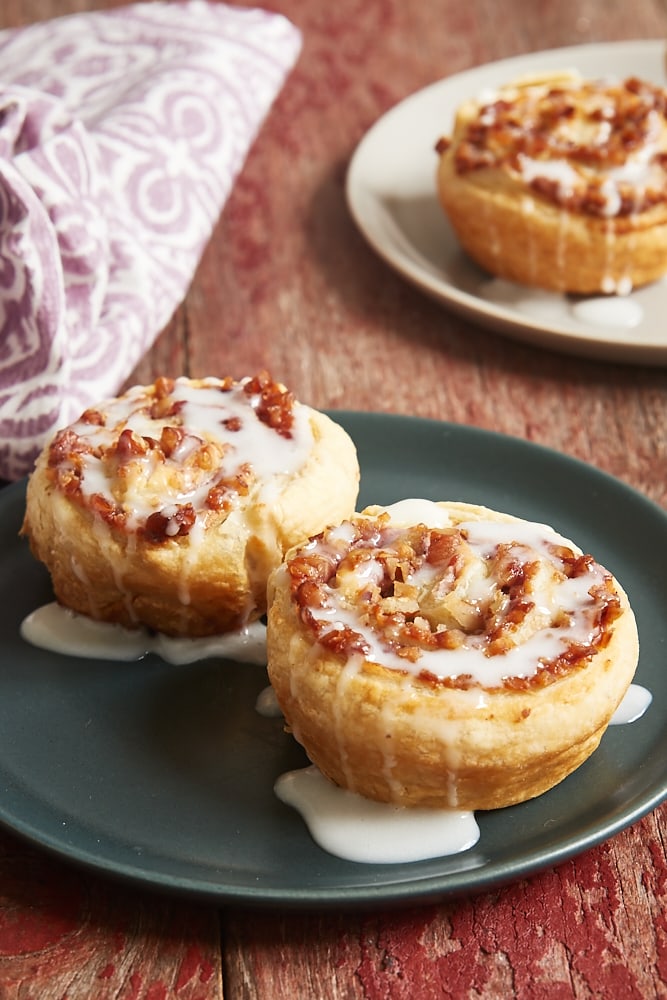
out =
[[(422, 679), (467, 688), (474, 683), (470, 674), (436, 676), (427, 654), (469, 647), (485, 658), (503, 658), (544, 628), (562, 629), (562, 652), (541, 658), (534, 675), (508, 674), (503, 682), (514, 689), (542, 686), (604, 648), (620, 614), (610, 574), (592, 556), (560, 544), (545, 542), (538, 552), (500, 542), (481, 556), (465, 528), (399, 528), (384, 514), (375, 522), (357, 518), (345, 528), (311, 539), (286, 563), (300, 619), (341, 657), (368, 656), (372, 635), (378, 648)], [(568, 640), (574, 591), (564, 591), (563, 607), (544, 595), (577, 579), (585, 580), (583, 591), (577, 590), (583, 597), (576, 600), (586, 627)], [(553, 607), (545, 611), (542, 605), (550, 601)]]

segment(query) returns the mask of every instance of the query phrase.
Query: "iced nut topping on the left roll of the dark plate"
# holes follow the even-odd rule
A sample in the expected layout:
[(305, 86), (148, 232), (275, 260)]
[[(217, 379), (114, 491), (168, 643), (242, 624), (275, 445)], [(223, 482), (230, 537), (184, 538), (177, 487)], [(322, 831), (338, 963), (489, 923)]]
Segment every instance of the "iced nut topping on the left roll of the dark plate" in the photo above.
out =
[(262, 475), (253, 465), (253, 449), (262, 456), (257, 421), (291, 439), (294, 405), (268, 372), (238, 382), (161, 377), (60, 431), (48, 475), (110, 527), (166, 544), (187, 536), (198, 517), (224, 520), (250, 494)]

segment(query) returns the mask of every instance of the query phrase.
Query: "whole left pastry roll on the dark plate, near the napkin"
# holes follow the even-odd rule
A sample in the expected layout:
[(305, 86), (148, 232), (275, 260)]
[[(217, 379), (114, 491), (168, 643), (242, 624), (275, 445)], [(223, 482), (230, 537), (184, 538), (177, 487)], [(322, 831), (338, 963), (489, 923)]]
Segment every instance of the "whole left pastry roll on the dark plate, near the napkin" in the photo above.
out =
[(55, 435), (22, 530), (65, 607), (217, 635), (265, 612), (270, 571), (354, 511), (358, 482), (343, 428), (266, 373), (159, 378)]

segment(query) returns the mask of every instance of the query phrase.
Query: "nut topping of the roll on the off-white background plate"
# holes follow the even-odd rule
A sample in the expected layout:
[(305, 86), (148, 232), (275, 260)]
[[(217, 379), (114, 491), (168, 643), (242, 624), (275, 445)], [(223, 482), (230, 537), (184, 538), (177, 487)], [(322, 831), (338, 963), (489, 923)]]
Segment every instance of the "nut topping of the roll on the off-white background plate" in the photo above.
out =
[[(667, 202), (667, 91), (635, 77), (618, 84), (527, 84), (480, 107), (454, 151), (457, 173), (507, 170), (541, 198), (595, 217)], [(436, 150), (445, 152), (450, 140)], [(623, 174), (628, 162), (639, 179)], [(549, 165), (556, 165), (556, 176)]]

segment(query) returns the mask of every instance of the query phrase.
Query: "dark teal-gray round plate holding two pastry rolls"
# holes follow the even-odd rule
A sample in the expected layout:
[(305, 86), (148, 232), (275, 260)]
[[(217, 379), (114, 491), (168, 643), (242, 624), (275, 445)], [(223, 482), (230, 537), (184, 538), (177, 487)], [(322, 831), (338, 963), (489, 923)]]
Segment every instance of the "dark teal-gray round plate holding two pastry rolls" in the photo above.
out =
[(635, 822), (667, 796), (667, 514), (595, 468), (470, 427), (334, 416), (357, 443), (360, 503), (465, 500), (547, 522), (620, 579), (641, 639), (642, 719), (608, 730), (559, 787), (478, 814), (449, 858), (361, 865), (320, 850), (273, 794), (306, 763), (255, 711), (263, 669), (69, 658), (34, 649), (23, 617), (52, 599), (17, 537), (24, 486), (0, 492), (0, 822), (57, 854), (219, 903), (348, 906), (434, 900), (523, 877)]

